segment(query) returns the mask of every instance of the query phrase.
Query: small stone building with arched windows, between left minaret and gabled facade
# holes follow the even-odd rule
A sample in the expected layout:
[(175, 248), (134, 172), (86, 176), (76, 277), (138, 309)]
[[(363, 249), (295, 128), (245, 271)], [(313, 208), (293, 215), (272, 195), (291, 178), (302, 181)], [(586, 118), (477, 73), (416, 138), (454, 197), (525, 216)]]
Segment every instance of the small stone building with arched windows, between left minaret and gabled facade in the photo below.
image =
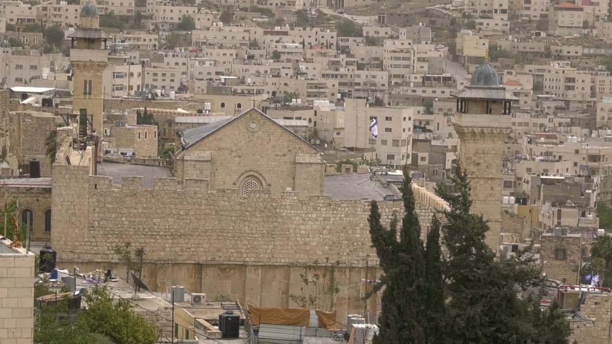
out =
[(111, 127), (111, 148), (133, 148), (136, 157), (157, 157), (156, 125), (125, 125)]

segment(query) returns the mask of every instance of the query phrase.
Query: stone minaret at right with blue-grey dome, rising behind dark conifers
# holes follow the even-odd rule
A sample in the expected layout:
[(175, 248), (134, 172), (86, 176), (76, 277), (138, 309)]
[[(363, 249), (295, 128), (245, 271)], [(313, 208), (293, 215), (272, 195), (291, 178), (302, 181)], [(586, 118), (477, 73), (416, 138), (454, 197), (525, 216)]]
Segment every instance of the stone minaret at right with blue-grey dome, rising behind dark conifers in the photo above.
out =
[(487, 244), (495, 252), (501, 242), (502, 152), (515, 99), (500, 86), (498, 73), (485, 62), (469, 86), (453, 92), (457, 99), (454, 126), (459, 136), (461, 168), (472, 186), (472, 212), (488, 220)]

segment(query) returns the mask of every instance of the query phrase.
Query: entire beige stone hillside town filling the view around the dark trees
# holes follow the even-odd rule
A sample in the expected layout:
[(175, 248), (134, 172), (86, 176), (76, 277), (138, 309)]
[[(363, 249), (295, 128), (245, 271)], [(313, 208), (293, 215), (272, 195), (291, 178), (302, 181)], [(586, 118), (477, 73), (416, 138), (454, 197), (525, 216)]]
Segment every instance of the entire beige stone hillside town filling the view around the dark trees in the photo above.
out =
[(0, 1), (0, 344), (100, 293), (133, 342), (378, 344), (373, 204), (424, 243), (455, 165), (516, 297), (610, 342), (612, 2), (448, 1)]

